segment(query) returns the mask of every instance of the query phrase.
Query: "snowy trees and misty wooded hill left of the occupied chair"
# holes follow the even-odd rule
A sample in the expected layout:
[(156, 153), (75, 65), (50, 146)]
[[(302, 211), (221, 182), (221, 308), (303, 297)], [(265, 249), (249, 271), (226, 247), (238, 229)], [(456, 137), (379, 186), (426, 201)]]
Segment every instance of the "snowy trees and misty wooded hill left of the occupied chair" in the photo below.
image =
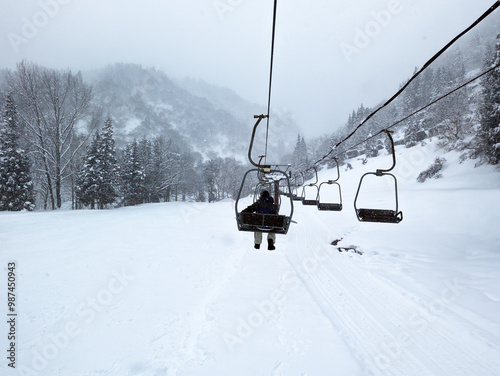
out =
[[(151, 82), (141, 77), (139, 86), (129, 83), (147, 95), (113, 88), (120, 80), (110, 80), (109, 74), (91, 85), (80, 72), (27, 61), (4, 73), (0, 210), (217, 201), (236, 194), (245, 166), (224, 148), (218, 131), (241, 148), (237, 119), (147, 70), (118, 65), (111, 72), (120, 79), (129, 72), (131, 82), (133, 72), (149, 77)], [(176, 111), (154, 102), (151, 97), (161, 95), (155, 85), (167, 91)], [(214, 112), (218, 117), (211, 116)], [(128, 129), (127, 122), (138, 124)], [(18, 200), (23, 203), (13, 203)]]

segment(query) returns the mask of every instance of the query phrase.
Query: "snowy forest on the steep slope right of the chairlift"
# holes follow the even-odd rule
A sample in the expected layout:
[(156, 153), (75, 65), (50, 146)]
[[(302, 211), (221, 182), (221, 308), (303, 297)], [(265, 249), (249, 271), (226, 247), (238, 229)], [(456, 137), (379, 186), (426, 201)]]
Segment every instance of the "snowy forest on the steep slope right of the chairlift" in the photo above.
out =
[(373, 108), (361, 104), (342, 127), (307, 145), (298, 137), (294, 153), (283, 161), (292, 160), (296, 171), (311, 175), (312, 166), (333, 167), (337, 160), (377, 157), (381, 150), (390, 150), (381, 132), (389, 129), (396, 145), (413, 147), (434, 137), (443, 150), (460, 151), (462, 160), (496, 165), (500, 162), (499, 65), (500, 34), (496, 39), (476, 34), (427, 67), (366, 123), (384, 102)]

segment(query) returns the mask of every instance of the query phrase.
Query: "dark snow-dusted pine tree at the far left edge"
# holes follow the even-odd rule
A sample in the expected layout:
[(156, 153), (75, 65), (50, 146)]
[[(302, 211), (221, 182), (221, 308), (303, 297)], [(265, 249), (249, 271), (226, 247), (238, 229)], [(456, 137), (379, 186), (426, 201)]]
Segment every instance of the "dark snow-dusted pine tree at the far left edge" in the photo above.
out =
[(17, 109), (12, 95), (7, 96), (0, 132), (0, 210), (33, 210), (33, 183), (30, 161), (19, 148)]

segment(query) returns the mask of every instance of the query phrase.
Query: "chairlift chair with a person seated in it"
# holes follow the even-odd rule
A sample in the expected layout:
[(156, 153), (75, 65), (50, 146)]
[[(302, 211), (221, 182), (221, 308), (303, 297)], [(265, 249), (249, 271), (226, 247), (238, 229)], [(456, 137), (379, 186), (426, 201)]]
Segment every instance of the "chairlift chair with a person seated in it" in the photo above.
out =
[[(255, 118), (258, 120), (253, 128), (252, 138), (250, 141), (250, 146), (248, 148), (248, 159), (250, 160), (250, 163), (254, 165), (256, 168), (247, 171), (243, 177), (243, 181), (241, 182), (240, 190), (238, 192), (238, 197), (236, 198), (235, 202), (236, 222), (239, 231), (250, 231), (250, 232), (260, 231), (267, 233), (272, 232), (276, 234), (286, 234), (290, 227), (290, 223), (292, 221), (292, 216), (293, 216), (293, 200), (292, 200), (290, 180), (288, 178), (288, 175), (284, 171), (278, 169), (280, 166), (276, 166), (278, 168), (273, 169), (271, 165), (261, 164), (262, 158), (259, 161), (259, 163), (255, 163), (252, 159), (252, 148), (255, 139), (255, 132), (257, 130), (259, 123), (262, 121), (262, 119), (266, 117), (267, 117), (266, 115), (255, 116)], [(279, 187), (281, 185), (281, 182), (284, 182), (284, 186), (285, 189), (288, 190), (288, 198), (290, 200), (290, 213), (288, 215), (242, 213), (239, 211), (238, 204), (241, 199), (241, 193), (243, 191), (243, 187), (245, 186), (245, 181), (247, 177), (252, 173), (255, 173), (259, 178), (259, 184), (260, 184), (259, 189), (263, 189), (263, 187), (268, 187), (269, 184), (273, 182), (273, 184), (271, 184), (271, 187), (273, 188), (272, 191), (274, 193), (275, 203), (278, 210), (281, 207)]]

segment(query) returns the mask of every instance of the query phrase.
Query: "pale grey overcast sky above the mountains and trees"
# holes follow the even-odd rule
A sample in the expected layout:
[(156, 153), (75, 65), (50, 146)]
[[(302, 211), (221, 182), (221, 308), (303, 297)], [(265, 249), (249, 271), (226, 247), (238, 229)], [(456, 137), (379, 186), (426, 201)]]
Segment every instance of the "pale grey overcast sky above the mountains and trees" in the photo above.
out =
[[(306, 136), (330, 133), (361, 103), (388, 98), (494, 2), (278, 0), (272, 107), (290, 111)], [(0, 67), (138, 63), (266, 104), (273, 4), (0, 0)]]

